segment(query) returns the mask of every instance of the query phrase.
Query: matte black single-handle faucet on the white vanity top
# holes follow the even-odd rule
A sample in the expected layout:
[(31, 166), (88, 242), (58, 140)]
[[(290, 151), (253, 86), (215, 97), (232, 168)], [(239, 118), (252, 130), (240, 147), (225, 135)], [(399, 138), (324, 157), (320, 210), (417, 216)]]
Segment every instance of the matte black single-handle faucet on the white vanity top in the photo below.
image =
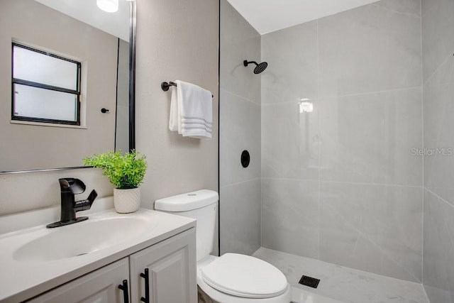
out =
[(75, 201), (74, 194), (82, 194), (85, 192), (85, 184), (79, 179), (63, 178), (59, 179), (60, 189), (62, 194), (62, 209), (60, 221), (48, 224), (47, 228), (54, 228), (68, 224), (77, 223), (88, 219), (88, 216), (76, 217), (77, 211), (85, 211), (92, 207), (94, 199), (98, 197), (96, 190), (90, 192), (87, 199)]

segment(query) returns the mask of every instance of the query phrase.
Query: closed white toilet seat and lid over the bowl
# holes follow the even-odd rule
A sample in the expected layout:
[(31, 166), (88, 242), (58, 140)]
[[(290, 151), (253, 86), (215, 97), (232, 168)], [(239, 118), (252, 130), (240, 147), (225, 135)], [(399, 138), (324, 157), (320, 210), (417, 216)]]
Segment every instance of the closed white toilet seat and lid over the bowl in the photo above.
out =
[(226, 253), (200, 270), (201, 279), (219, 292), (248, 299), (278, 297), (287, 291), (284, 274), (249, 255)]

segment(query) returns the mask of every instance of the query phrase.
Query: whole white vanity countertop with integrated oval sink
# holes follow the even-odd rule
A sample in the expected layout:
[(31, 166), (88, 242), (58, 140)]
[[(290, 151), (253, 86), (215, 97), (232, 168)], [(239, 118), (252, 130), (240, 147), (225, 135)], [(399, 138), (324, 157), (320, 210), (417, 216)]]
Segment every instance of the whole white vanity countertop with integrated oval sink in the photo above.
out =
[[(107, 206), (114, 205), (110, 197), (101, 198), (98, 206), (102, 199), (110, 203)], [(14, 221), (40, 220), (0, 234), (0, 302), (23, 302), (196, 227), (194, 219), (149, 209), (84, 215), (89, 216), (87, 221), (57, 228), (45, 226), (60, 216), (58, 207), (0, 218), (0, 230)]]

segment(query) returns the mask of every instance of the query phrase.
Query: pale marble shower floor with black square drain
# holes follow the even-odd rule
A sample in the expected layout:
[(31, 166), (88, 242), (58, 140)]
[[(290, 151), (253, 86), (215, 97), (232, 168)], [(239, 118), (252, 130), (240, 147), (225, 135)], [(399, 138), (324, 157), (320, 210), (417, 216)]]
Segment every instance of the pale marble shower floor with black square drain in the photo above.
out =
[[(253, 255), (284, 272), (293, 287), (294, 303), (429, 303), (423, 286), (418, 283), (268, 248), (259, 248)], [(320, 279), (319, 287), (299, 285), (301, 275)]]

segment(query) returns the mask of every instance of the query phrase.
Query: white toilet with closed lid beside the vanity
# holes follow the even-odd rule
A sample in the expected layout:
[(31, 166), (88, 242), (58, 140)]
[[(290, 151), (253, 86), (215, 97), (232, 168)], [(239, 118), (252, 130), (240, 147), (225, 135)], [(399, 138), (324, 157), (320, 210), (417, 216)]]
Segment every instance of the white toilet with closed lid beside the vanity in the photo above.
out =
[(289, 303), (292, 287), (284, 274), (270, 263), (238, 253), (221, 257), (209, 254), (213, 250), (217, 203), (218, 193), (207, 189), (155, 202), (156, 210), (197, 220), (197, 284), (200, 289), (218, 303)]

